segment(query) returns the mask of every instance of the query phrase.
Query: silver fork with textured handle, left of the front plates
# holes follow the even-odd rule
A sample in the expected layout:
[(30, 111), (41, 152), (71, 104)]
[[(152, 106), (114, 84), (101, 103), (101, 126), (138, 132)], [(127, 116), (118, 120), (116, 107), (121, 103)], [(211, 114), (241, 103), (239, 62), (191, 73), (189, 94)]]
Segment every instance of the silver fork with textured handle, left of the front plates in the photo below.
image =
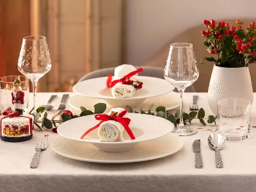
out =
[(35, 155), (31, 161), (30, 168), (37, 168), (38, 161), (40, 157), (40, 153), (42, 150), (46, 150), (47, 148), (47, 140), (48, 140), (48, 134), (45, 134), (45, 136), (38, 136), (36, 141), (36, 152)]

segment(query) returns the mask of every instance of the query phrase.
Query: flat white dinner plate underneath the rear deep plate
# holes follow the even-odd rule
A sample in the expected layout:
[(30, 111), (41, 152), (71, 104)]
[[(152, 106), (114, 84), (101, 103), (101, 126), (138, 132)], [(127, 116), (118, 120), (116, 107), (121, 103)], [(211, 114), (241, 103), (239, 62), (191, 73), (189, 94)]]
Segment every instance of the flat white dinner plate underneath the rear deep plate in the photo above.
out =
[[(94, 111), (93, 106), (99, 102), (104, 102), (102, 99), (95, 99), (92, 97), (86, 97), (83, 95), (73, 95), (68, 100), (68, 104), (77, 111), (80, 111), (80, 107), (84, 107), (88, 110)], [(171, 110), (178, 108), (180, 106), (180, 95), (177, 92), (170, 92), (161, 96), (151, 97), (146, 99), (140, 105), (134, 107), (134, 111), (143, 110), (147, 111), (150, 104), (154, 103), (152, 110), (156, 110), (158, 106), (164, 106), (166, 110)], [(112, 108), (119, 108), (120, 106), (110, 106), (107, 104), (106, 112), (110, 111)]]

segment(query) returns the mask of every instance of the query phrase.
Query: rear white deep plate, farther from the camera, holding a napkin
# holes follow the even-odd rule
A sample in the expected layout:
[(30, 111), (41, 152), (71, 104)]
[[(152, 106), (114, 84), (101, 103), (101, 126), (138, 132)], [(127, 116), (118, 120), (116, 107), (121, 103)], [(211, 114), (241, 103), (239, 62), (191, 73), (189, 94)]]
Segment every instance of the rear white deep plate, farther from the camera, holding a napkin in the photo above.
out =
[(106, 86), (107, 79), (108, 77), (99, 77), (82, 81), (74, 85), (73, 91), (78, 95), (103, 99), (111, 106), (124, 107), (125, 105), (136, 106), (147, 98), (164, 95), (174, 90), (174, 86), (164, 79), (139, 76), (138, 80), (143, 82), (142, 88), (132, 97), (119, 99), (111, 95), (111, 88)]

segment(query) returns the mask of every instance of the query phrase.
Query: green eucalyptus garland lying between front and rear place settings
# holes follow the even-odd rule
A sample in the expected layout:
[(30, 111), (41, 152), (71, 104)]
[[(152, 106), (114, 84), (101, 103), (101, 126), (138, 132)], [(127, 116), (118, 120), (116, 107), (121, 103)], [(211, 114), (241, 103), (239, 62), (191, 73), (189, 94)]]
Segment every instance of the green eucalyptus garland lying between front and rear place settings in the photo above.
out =
[[(125, 106), (125, 109), (127, 109), (129, 113), (140, 113), (140, 114), (154, 115), (154, 116), (159, 116), (161, 118), (165, 118), (166, 120), (169, 120), (170, 122), (172, 122), (175, 125), (175, 127), (177, 126), (177, 124), (179, 124), (180, 110), (177, 110), (173, 115), (172, 113), (168, 113), (168, 111), (166, 111), (166, 108), (164, 106), (158, 106), (156, 110), (152, 110), (153, 107), (154, 107), (154, 104), (151, 104), (147, 110), (143, 110), (141, 108), (140, 111), (135, 111), (134, 109), (132, 109), (131, 106)], [(45, 127), (46, 129), (52, 129), (52, 131), (56, 132), (56, 129), (57, 129), (56, 124), (60, 125), (62, 122), (66, 122), (72, 118), (77, 118), (79, 116), (101, 114), (106, 111), (106, 108), (107, 108), (106, 104), (98, 103), (98, 104), (95, 104), (94, 112), (93, 112), (81, 106), (80, 107), (81, 113), (79, 115), (73, 115), (72, 112), (69, 111), (70, 114), (68, 113), (61, 114), (59, 120), (55, 120), (55, 118), (60, 111), (56, 111), (56, 113), (54, 113), (54, 115), (50, 120), (49, 118), (47, 118), (47, 115), (48, 115), (47, 112), (44, 113), (45, 111), (44, 107), (37, 108), (36, 113), (31, 113), (33, 111), (33, 109), (31, 109), (29, 114), (34, 116), (34, 124), (36, 125), (36, 127), (38, 127), (38, 129), (43, 131), (42, 128)], [(42, 113), (44, 113), (44, 117), (40, 120), (40, 116)], [(198, 112), (196, 111), (191, 111), (190, 113), (184, 112), (182, 115), (184, 119), (184, 124), (186, 124), (186, 122), (189, 122), (189, 124), (191, 124), (191, 121), (197, 118), (199, 119), (202, 125), (206, 125), (205, 120), (207, 120), (208, 124), (214, 123), (216, 125), (217, 116), (214, 117), (213, 115), (209, 115), (208, 118), (205, 118), (205, 111), (203, 108), (200, 108)]]

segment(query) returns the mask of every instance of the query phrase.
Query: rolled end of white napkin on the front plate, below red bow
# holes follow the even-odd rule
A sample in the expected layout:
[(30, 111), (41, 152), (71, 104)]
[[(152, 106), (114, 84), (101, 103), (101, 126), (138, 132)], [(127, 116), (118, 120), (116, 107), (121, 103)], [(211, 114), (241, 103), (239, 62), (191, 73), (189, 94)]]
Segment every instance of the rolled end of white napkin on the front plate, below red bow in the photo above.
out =
[(124, 141), (123, 138), (124, 126), (119, 122), (109, 120), (100, 124), (98, 136), (100, 141), (114, 142)]

